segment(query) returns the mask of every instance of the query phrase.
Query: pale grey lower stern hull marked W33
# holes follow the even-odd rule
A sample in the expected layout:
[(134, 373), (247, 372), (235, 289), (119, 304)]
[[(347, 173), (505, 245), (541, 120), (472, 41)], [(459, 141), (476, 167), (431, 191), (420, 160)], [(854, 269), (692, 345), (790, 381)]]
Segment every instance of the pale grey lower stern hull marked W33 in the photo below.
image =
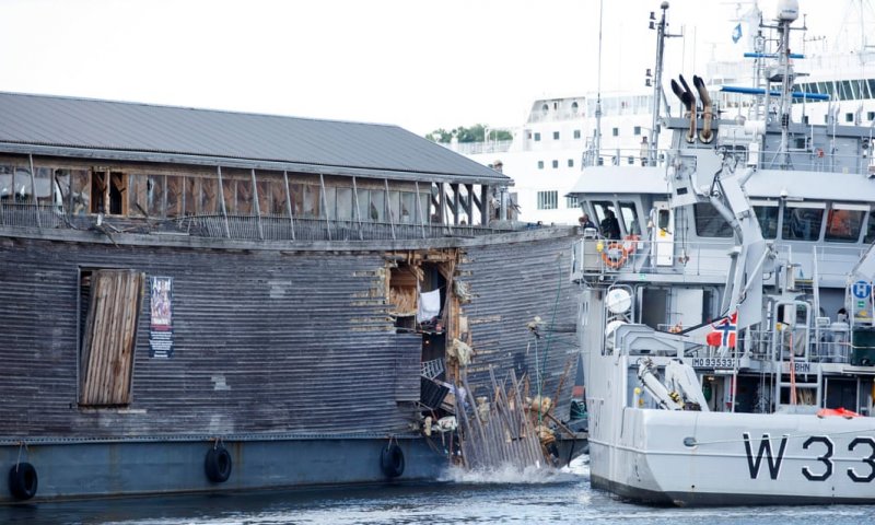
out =
[(626, 409), (591, 439), (594, 488), (677, 505), (872, 503), (868, 418)]

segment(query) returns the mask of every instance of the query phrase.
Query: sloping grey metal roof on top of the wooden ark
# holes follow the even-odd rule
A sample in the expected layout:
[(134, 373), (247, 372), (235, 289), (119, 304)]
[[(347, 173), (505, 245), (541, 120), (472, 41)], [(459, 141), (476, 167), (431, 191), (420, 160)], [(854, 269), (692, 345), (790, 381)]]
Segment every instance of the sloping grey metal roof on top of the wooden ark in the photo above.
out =
[(469, 184), (510, 178), (397, 126), (0, 92), (0, 151)]

